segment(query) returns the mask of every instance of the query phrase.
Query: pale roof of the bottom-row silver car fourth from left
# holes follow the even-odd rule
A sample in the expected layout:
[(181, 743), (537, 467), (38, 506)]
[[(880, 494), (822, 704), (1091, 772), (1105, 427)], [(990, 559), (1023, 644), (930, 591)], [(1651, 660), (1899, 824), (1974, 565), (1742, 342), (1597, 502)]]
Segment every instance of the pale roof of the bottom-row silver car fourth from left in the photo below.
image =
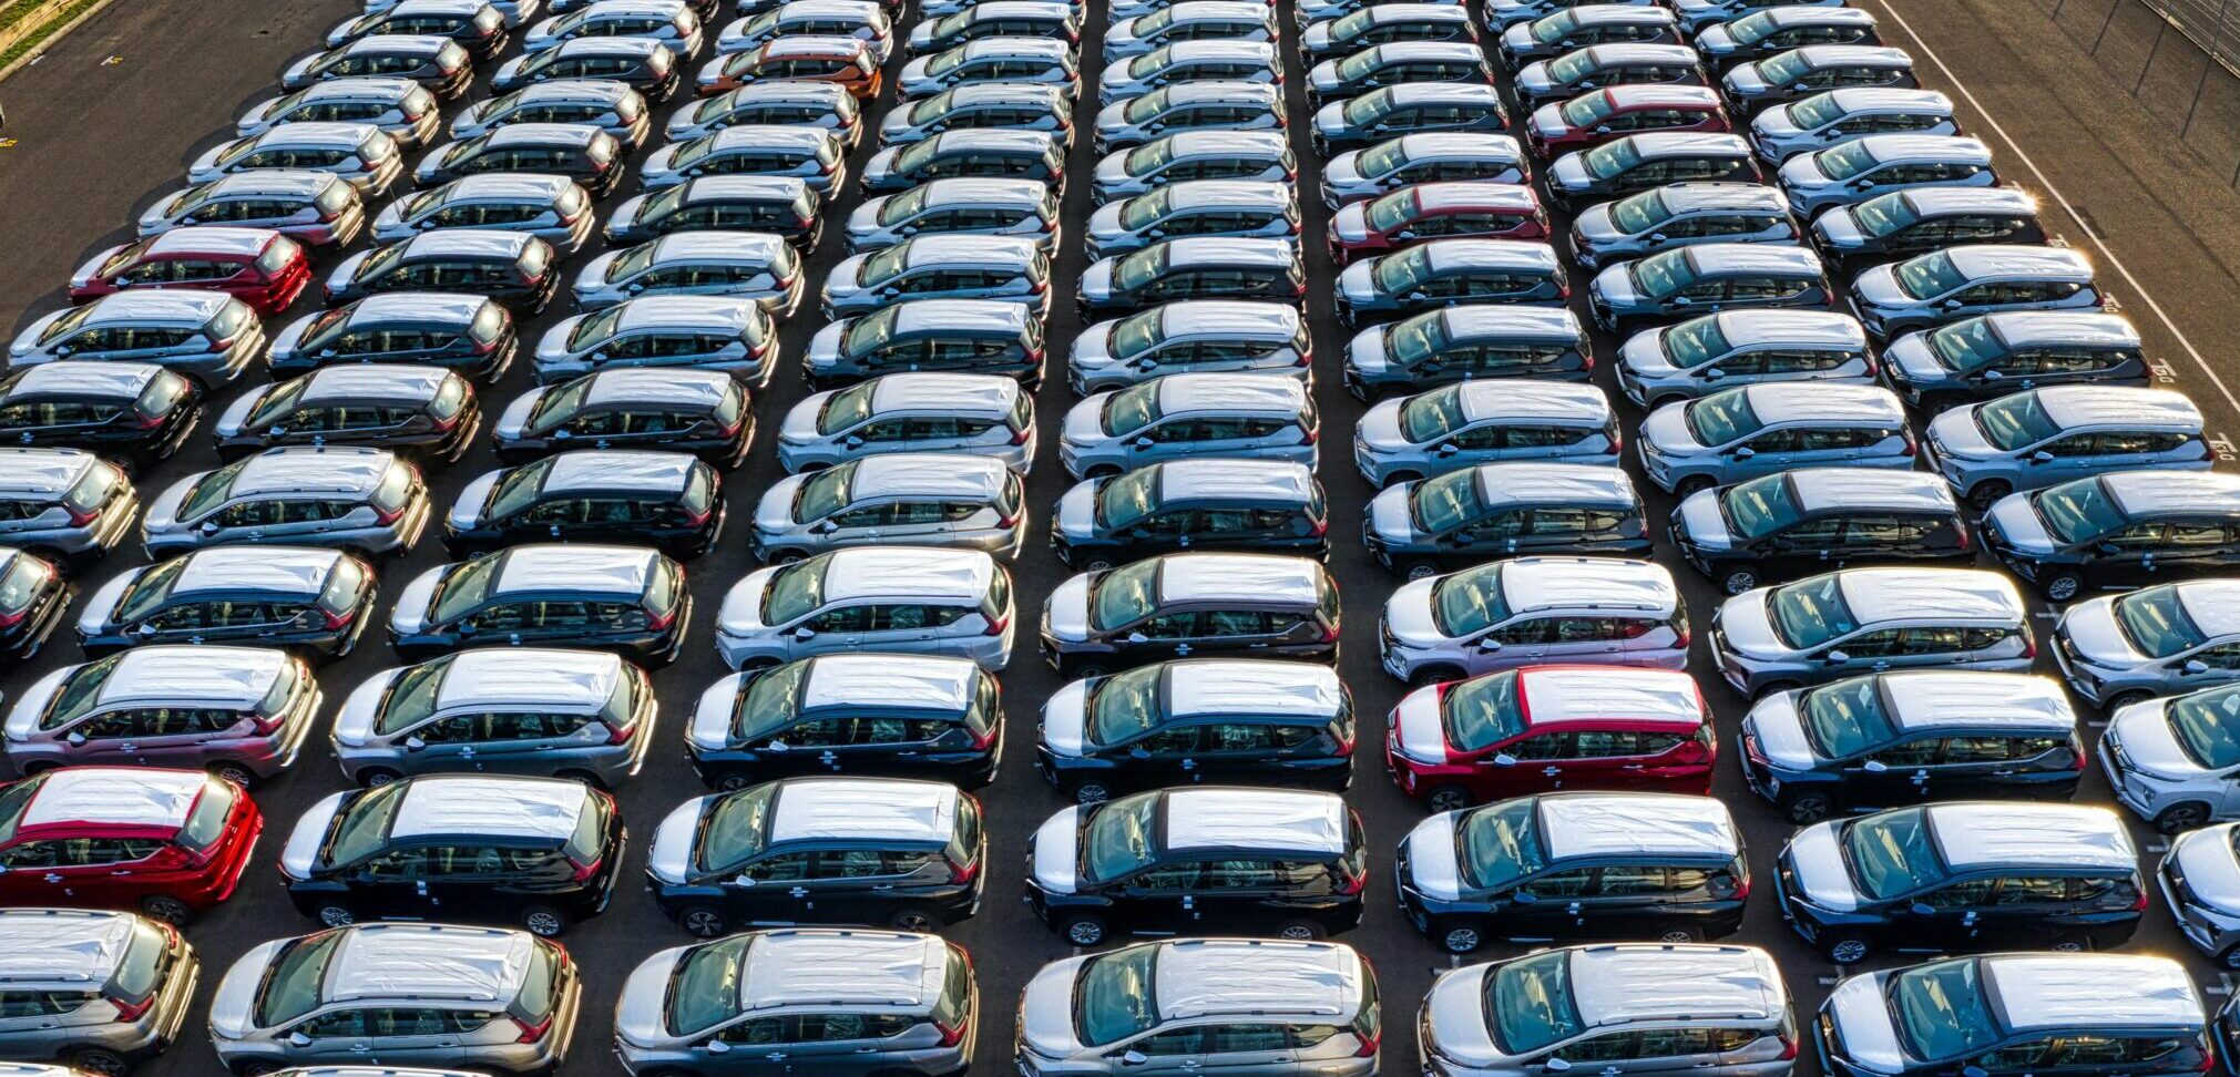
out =
[(1160, 1021), (1236, 1014), (1319, 1017), (1340, 1023), (1366, 994), (1362, 956), (1342, 943), (1275, 938), (1185, 938), (1151, 943), (1151, 999)]

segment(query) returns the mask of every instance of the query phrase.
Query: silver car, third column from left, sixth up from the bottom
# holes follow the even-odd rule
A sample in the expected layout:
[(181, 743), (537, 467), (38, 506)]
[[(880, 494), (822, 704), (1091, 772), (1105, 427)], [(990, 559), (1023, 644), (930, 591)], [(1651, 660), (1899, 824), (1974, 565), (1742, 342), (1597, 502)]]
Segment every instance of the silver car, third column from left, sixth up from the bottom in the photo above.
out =
[(883, 452), (970, 452), (1024, 475), (1035, 461), (1035, 399), (995, 374), (883, 374), (809, 394), (777, 428), (788, 472)]

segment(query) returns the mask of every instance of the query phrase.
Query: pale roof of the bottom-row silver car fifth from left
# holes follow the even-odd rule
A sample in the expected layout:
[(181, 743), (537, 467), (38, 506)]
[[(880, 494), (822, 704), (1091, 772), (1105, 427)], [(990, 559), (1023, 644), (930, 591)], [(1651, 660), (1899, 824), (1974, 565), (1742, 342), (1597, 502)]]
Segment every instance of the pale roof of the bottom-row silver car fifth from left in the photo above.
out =
[(1788, 1010), (1774, 958), (1758, 947), (1615, 943), (1575, 947), (1570, 996), (1588, 1028)]

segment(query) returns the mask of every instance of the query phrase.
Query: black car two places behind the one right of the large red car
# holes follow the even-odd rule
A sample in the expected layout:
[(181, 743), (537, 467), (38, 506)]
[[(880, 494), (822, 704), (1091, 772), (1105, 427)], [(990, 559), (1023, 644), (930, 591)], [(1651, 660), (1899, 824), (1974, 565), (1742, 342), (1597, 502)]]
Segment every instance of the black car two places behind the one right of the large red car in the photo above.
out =
[(1976, 560), (1951, 484), (1920, 470), (1799, 468), (1696, 490), (1671, 540), (1729, 596), (1850, 564)]

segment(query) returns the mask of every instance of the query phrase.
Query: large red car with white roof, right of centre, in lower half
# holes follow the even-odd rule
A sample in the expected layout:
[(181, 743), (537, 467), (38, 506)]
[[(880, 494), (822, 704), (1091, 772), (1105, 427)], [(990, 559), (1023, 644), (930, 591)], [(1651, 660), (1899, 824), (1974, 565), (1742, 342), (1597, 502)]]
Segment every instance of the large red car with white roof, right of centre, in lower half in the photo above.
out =
[(1707, 793), (1718, 741), (1678, 669), (1528, 665), (1420, 687), (1387, 719), (1384, 766), (1431, 811), (1548, 790)]

